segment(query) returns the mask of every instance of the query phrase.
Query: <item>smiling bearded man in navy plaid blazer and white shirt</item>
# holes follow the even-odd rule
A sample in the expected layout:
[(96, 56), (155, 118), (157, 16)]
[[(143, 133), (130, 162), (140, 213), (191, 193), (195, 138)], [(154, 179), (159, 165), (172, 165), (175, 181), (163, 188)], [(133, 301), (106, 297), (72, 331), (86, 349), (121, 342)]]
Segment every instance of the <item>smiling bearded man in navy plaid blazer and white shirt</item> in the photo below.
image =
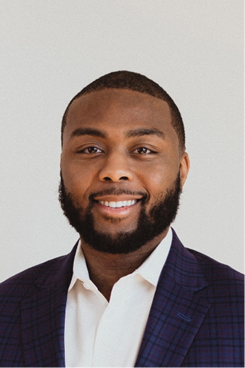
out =
[(245, 367), (245, 277), (170, 228), (189, 158), (162, 87), (128, 71), (85, 87), (60, 167), (80, 240), (1, 284), (1, 367)]

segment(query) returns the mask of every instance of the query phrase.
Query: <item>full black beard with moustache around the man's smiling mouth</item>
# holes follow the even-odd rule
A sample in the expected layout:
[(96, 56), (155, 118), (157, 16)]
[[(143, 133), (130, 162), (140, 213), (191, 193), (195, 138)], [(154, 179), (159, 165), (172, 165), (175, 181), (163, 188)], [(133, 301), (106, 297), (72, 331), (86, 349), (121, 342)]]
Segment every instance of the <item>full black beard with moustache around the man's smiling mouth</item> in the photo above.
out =
[[(116, 188), (111, 188), (103, 192), (103, 194), (132, 193), (123, 189), (119, 192)], [(180, 174), (178, 174), (172, 187), (168, 188), (166, 194), (162, 194), (162, 196), (151, 206), (149, 214), (146, 212), (146, 202), (148, 198), (144, 196), (144, 198), (140, 200), (142, 208), (135, 230), (120, 231), (116, 235), (112, 235), (95, 229), (92, 207), (94, 205), (93, 198), (96, 194), (90, 195), (89, 205), (84, 210), (81, 205), (79, 205), (78, 198), (66, 192), (62, 175), (59, 187), (60, 205), (70, 225), (79, 233), (81, 239), (93, 249), (110, 254), (127, 254), (137, 251), (144, 244), (163, 233), (170, 226), (171, 222), (175, 220), (179, 209), (180, 195), (181, 180)]]

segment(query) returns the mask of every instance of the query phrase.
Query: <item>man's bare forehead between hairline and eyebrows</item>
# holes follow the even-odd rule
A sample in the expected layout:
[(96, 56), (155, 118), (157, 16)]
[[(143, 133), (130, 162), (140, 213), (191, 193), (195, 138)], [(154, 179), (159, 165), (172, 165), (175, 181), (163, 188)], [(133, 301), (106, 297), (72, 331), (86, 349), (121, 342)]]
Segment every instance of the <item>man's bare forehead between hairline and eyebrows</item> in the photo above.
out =
[(64, 138), (88, 126), (108, 130), (157, 128), (172, 131), (170, 108), (164, 100), (128, 89), (103, 89), (81, 95), (70, 105)]

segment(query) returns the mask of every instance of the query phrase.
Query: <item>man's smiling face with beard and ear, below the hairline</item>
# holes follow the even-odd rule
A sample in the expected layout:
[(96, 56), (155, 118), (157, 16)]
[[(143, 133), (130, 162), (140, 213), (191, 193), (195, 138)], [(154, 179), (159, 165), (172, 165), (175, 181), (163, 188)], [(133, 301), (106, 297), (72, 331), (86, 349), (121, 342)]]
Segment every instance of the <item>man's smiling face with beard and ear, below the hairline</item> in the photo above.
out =
[[(71, 225), (95, 249), (127, 253), (164, 236), (175, 218), (188, 166), (163, 100), (105, 89), (71, 104), (61, 200)], [(98, 249), (100, 243), (107, 245)]]

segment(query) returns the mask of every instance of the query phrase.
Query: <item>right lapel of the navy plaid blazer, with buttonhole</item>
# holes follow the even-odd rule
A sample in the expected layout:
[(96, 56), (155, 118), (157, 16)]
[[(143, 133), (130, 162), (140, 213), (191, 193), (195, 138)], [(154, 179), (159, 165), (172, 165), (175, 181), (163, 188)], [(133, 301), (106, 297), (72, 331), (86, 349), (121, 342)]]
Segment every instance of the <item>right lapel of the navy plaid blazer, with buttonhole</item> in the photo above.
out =
[(174, 233), (135, 367), (181, 366), (209, 309), (209, 303), (196, 295), (205, 286), (196, 258)]

